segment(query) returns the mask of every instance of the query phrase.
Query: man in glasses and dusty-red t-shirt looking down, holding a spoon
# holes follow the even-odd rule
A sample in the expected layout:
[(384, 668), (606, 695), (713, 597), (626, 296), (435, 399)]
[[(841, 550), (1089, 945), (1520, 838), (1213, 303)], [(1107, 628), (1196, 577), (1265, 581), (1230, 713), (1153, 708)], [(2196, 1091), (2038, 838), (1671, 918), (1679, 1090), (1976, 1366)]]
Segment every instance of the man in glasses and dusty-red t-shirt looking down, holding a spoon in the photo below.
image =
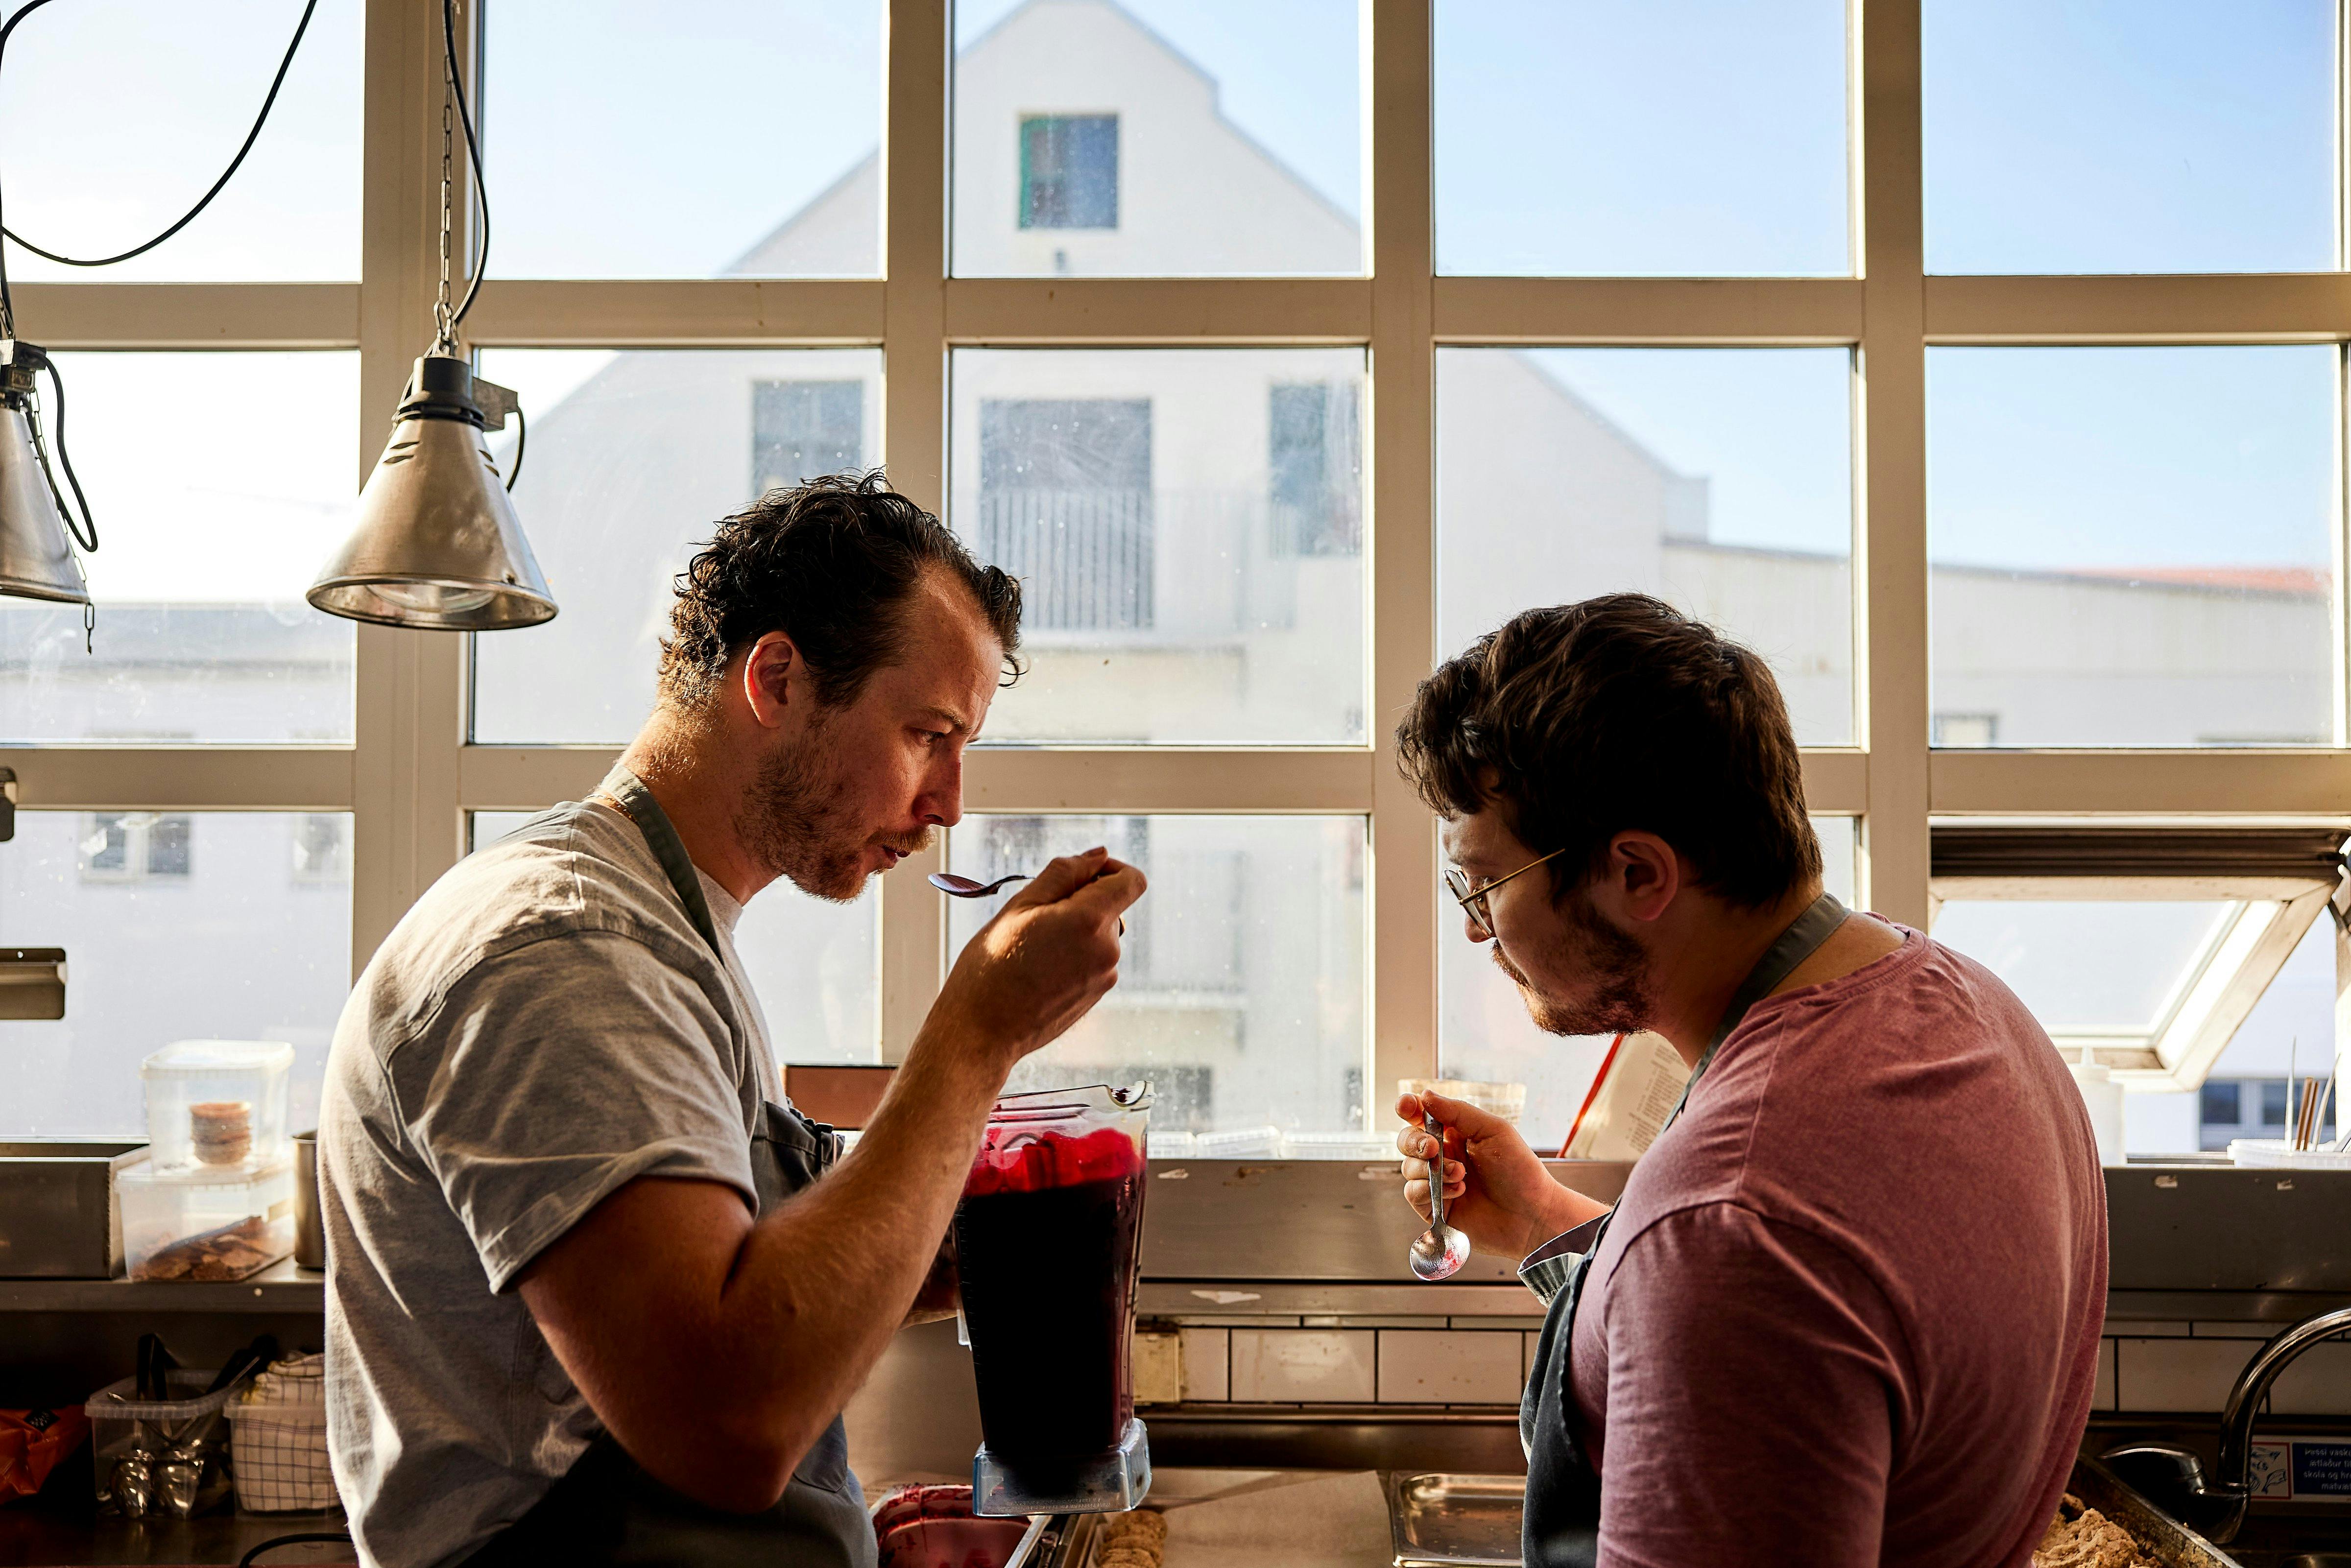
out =
[(1763, 661), (1643, 595), (1535, 609), (1399, 743), (1535, 1025), (1693, 1070), (1613, 1211), (1396, 1103), (1406, 1199), (1432, 1114), (1446, 1218), (1547, 1305), (1526, 1563), (2029, 1563), (2097, 1378), (2097, 1145), (2005, 985), (1822, 891)]

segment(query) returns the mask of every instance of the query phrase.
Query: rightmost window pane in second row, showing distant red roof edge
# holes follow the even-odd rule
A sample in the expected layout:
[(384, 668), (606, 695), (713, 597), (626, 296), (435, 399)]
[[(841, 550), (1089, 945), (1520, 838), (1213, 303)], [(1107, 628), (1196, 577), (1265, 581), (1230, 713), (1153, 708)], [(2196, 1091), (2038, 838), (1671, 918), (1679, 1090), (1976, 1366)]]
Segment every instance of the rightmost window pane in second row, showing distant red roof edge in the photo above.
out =
[(1937, 745), (2327, 745), (2335, 348), (1930, 348)]

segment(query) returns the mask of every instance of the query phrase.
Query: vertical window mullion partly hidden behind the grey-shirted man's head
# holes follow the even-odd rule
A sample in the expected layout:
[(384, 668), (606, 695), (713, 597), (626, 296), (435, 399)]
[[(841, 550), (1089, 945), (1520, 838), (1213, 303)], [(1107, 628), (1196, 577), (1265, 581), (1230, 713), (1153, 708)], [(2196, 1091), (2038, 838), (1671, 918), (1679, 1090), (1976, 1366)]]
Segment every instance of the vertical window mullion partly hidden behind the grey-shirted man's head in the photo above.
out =
[[(889, 0), (882, 132), (882, 456), (905, 496), (945, 515), (947, 498), (947, 0)], [(924, 877), (945, 844), (882, 879), (882, 1060), (896, 1063), (938, 999), (945, 900)]]

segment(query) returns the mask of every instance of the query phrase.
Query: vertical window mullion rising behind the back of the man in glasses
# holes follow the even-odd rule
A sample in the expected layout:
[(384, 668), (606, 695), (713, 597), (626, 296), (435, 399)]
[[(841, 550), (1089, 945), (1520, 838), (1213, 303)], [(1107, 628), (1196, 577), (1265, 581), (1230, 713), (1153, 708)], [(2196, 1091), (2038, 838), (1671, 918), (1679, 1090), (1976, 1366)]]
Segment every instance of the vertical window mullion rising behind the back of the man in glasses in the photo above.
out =
[(1862, 903), (1928, 924), (1925, 249), (1918, 2), (1855, 0), (1862, 374), (1855, 729), (1869, 750)]

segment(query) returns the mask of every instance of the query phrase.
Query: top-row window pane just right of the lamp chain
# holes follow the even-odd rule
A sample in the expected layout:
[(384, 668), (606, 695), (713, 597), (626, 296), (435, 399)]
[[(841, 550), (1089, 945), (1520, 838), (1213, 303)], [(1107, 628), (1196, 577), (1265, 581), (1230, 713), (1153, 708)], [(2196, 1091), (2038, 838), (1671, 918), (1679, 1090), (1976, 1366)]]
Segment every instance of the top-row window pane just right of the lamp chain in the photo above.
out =
[(872, 277), (879, 0), (491, 0), (496, 277)]

